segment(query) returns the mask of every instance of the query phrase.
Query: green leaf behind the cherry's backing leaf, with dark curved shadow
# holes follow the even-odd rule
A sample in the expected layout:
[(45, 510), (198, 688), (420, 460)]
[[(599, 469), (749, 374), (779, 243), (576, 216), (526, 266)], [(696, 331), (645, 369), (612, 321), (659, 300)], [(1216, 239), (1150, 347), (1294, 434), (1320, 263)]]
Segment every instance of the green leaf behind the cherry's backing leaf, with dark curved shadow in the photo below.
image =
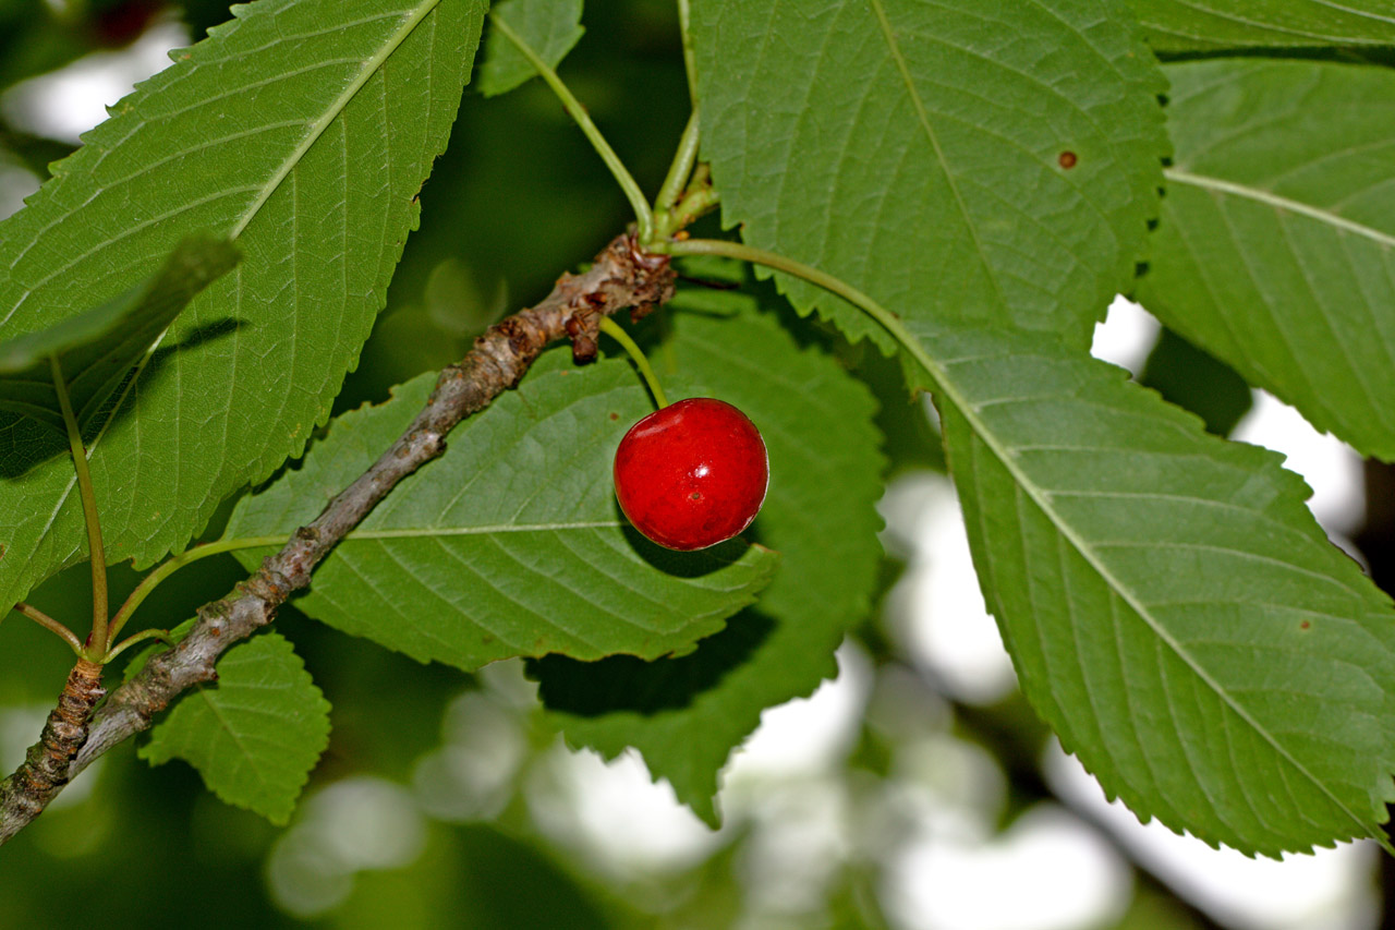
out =
[(868, 390), (827, 352), (801, 349), (752, 297), (686, 290), (668, 307), (674, 335), (656, 362), (739, 406), (764, 436), (770, 492), (753, 531), (781, 553), (780, 573), (757, 606), (692, 655), (548, 656), (533, 673), (547, 722), (569, 743), (607, 757), (636, 747), (650, 774), (716, 827), (717, 774), (731, 750), (764, 708), (837, 674), (834, 649), (866, 617), (882, 559), (883, 461)]

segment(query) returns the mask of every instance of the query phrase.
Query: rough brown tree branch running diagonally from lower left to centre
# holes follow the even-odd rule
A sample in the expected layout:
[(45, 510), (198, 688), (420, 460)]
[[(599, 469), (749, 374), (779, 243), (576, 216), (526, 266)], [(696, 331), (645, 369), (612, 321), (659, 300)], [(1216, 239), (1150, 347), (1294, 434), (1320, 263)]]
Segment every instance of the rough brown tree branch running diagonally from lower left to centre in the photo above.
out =
[[(14, 782), (21, 788), (0, 795), (0, 843), (38, 817), (61, 786), (93, 760), (148, 729), (155, 714), (179, 694), (201, 681), (216, 680), (218, 658), (271, 623), (293, 592), (308, 586), (315, 566), (335, 545), (398, 482), (439, 457), (445, 451), (445, 436), (456, 423), (515, 387), (548, 344), (571, 338), (576, 360), (589, 362), (596, 355), (601, 317), (624, 309), (643, 316), (672, 293), (674, 271), (668, 257), (646, 253), (632, 235), (624, 235), (617, 236), (586, 272), (564, 274), (540, 304), (490, 327), (463, 360), (441, 373), (427, 405), (367, 472), (329, 501), (314, 522), (297, 529), (279, 553), (266, 557), (233, 595), (201, 607), (190, 634), (173, 649), (152, 656), (135, 677), (116, 688), (92, 714), (85, 733), (68, 733), (64, 744), (54, 750), (70, 760), (67, 771), (61, 771), (59, 760), (59, 772), (50, 779), (53, 785), (29, 792), (22, 788), (20, 772), (7, 779), (7, 785)], [(31, 754), (40, 747), (43, 751), (52, 748), (40, 740)]]

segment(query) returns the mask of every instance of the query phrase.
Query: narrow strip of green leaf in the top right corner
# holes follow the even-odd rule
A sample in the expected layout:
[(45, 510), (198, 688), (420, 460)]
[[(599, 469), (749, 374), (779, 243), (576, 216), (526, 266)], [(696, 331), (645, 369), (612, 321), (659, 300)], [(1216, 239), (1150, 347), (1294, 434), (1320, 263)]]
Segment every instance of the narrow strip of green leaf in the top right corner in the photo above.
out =
[(1395, 45), (1389, 0), (1129, 0), (1159, 52)]

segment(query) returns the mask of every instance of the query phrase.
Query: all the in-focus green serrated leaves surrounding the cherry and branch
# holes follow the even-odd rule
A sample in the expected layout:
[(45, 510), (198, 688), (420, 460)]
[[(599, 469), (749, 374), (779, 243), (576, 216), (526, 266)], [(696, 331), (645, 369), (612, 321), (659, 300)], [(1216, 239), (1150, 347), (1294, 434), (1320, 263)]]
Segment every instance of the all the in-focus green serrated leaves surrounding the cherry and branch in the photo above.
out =
[[(1131, 290), (1317, 426), (1395, 457), (1395, 123), (1378, 119), (1395, 27), (1378, 6), (688, 4), (723, 221), (844, 282), (834, 296), (776, 275), (795, 311), (870, 341), (933, 394), (1025, 694), (1140, 815), (1251, 853), (1380, 836), (1395, 612), (1276, 455), (1208, 434), (1088, 342)], [(580, 13), (497, 7), (552, 64)], [(420, 406), (430, 376), (310, 443), (417, 223), (484, 14), (484, 0), (239, 7), (0, 229), (0, 334), (40, 348), (191, 233), (243, 254), (138, 378), (93, 369), (119, 388), (88, 437), (112, 561), (181, 550), (273, 473), (223, 539), (289, 535)], [(477, 82), (502, 94), (523, 64), (491, 34)], [(420, 660), (534, 659), (573, 744), (638, 747), (716, 822), (730, 751), (763, 708), (833, 674), (880, 559), (875, 404), (815, 327), (791, 332), (777, 310), (685, 292), (647, 334), (672, 394), (723, 397), (767, 438), (771, 492), (749, 539), (691, 556), (643, 543), (608, 462), (646, 394), (621, 362), (545, 356), (297, 606)], [(80, 337), (110, 341), (96, 325)], [(0, 603), (85, 553), (71, 464), (27, 415), (0, 404)], [(144, 753), (187, 758), (225, 799), (285, 820), (328, 705), (279, 637), (219, 669)]]

